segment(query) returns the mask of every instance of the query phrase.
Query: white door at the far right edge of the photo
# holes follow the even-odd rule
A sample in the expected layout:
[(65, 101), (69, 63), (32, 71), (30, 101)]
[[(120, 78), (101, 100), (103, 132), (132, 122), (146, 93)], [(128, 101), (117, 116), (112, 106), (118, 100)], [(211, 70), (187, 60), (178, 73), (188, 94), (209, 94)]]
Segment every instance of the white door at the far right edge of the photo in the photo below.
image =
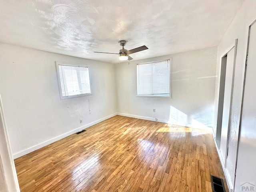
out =
[[(243, 182), (256, 183), (256, 23), (250, 28), (237, 161), (236, 191)], [(253, 184), (253, 185), (252, 185)]]

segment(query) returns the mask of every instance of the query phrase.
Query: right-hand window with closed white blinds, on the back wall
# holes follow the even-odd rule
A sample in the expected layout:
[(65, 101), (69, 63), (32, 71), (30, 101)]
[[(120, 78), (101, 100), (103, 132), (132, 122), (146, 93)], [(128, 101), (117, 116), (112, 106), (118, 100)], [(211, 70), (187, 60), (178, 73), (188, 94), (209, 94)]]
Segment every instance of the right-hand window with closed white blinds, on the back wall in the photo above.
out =
[(137, 96), (170, 98), (170, 60), (137, 64)]

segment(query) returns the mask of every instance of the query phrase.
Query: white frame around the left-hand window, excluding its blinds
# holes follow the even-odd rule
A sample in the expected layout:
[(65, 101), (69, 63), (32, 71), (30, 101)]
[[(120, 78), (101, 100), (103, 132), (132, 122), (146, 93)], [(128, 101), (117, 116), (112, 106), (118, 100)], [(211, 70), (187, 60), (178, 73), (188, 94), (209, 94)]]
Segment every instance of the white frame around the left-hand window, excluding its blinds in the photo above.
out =
[[(72, 96), (62, 96), (62, 88), (61, 88), (61, 82), (60, 82), (60, 70), (59, 70), (60, 65), (74, 66), (74, 67), (84, 67), (84, 68), (87, 67), (88, 68), (88, 74), (89, 74), (90, 93), (84, 93), (84, 94), (78, 94), (78, 95), (72, 95)], [(61, 100), (92, 95), (92, 87), (91, 87), (91, 80), (90, 80), (90, 68), (89, 68), (88, 65), (56, 61), (56, 70), (57, 70), (59, 94), (60, 94), (60, 99)]]

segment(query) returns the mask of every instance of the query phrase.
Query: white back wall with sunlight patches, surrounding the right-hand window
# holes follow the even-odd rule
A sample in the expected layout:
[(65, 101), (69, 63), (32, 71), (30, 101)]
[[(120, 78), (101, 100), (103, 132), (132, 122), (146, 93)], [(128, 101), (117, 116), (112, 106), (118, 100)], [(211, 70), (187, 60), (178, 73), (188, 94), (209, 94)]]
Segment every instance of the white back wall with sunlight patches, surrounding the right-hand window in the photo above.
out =
[[(136, 97), (136, 64), (172, 58), (172, 98)], [(115, 65), (118, 114), (212, 127), (217, 47)], [(153, 112), (156, 109), (156, 112)]]

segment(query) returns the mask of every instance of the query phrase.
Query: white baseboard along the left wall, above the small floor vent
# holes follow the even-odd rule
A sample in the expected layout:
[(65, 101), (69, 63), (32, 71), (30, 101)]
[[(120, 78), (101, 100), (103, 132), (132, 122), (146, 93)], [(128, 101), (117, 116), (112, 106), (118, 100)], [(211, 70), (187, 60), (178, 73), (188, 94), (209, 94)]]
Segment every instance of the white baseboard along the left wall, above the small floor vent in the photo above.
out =
[(114, 117), (114, 116), (116, 116), (116, 115), (117, 115), (117, 113), (114, 113), (114, 114), (111, 114), (111, 115), (106, 116), (106, 117), (104, 117), (104, 118), (101, 118), (101, 119), (99, 119), (99, 120), (96, 120), (96, 121), (94, 121), (94, 122), (88, 123), (88, 124), (86, 124), (86, 125), (84, 125), (84, 126), (81, 126), (81, 127), (76, 128), (76, 129), (74, 129), (74, 130), (71, 130), (71, 131), (69, 131), (69, 132), (66, 132), (66, 133), (64, 133), (64, 134), (61, 134), (60, 136), (54, 137), (54, 138), (49, 139), (49, 140), (47, 140), (47, 141), (44, 141), (44, 142), (42, 142), (42, 143), (40, 143), (40, 144), (37, 144), (37, 145), (35, 145), (35, 146), (32, 146), (32, 147), (27, 148), (27, 149), (25, 149), (25, 150), (22, 150), (22, 151), (20, 151), (20, 152), (18, 152), (18, 153), (15, 153), (15, 154), (13, 154), (12, 156), (13, 156), (14, 159), (19, 158), (19, 157), (21, 157), (21, 156), (24, 156), (24, 155), (30, 153), (30, 152), (33, 152), (33, 151), (35, 151), (35, 150), (38, 150), (38, 149), (40, 149), (40, 148), (42, 148), (42, 147), (44, 147), (44, 146), (47, 146), (47, 145), (49, 145), (49, 144), (51, 144), (51, 143), (53, 143), (53, 142), (56, 142), (56, 141), (58, 141), (58, 140), (61, 140), (61, 139), (65, 138), (65, 137), (67, 137), (67, 136), (70, 136), (70, 135), (72, 135), (72, 134), (74, 134), (74, 133), (76, 133), (76, 132), (79, 132), (79, 131), (81, 131), (81, 130), (83, 130), (83, 129), (86, 129), (86, 128), (90, 127), (90, 126), (93, 126), (93, 125), (95, 125), (95, 124), (97, 124), (97, 123), (100, 123), (100, 122), (102, 122), (102, 121), (104, 121), (104, 120), (106, 120), (106, 119), (109, 119), (109, 118), (111, 118), (111, 117)]

